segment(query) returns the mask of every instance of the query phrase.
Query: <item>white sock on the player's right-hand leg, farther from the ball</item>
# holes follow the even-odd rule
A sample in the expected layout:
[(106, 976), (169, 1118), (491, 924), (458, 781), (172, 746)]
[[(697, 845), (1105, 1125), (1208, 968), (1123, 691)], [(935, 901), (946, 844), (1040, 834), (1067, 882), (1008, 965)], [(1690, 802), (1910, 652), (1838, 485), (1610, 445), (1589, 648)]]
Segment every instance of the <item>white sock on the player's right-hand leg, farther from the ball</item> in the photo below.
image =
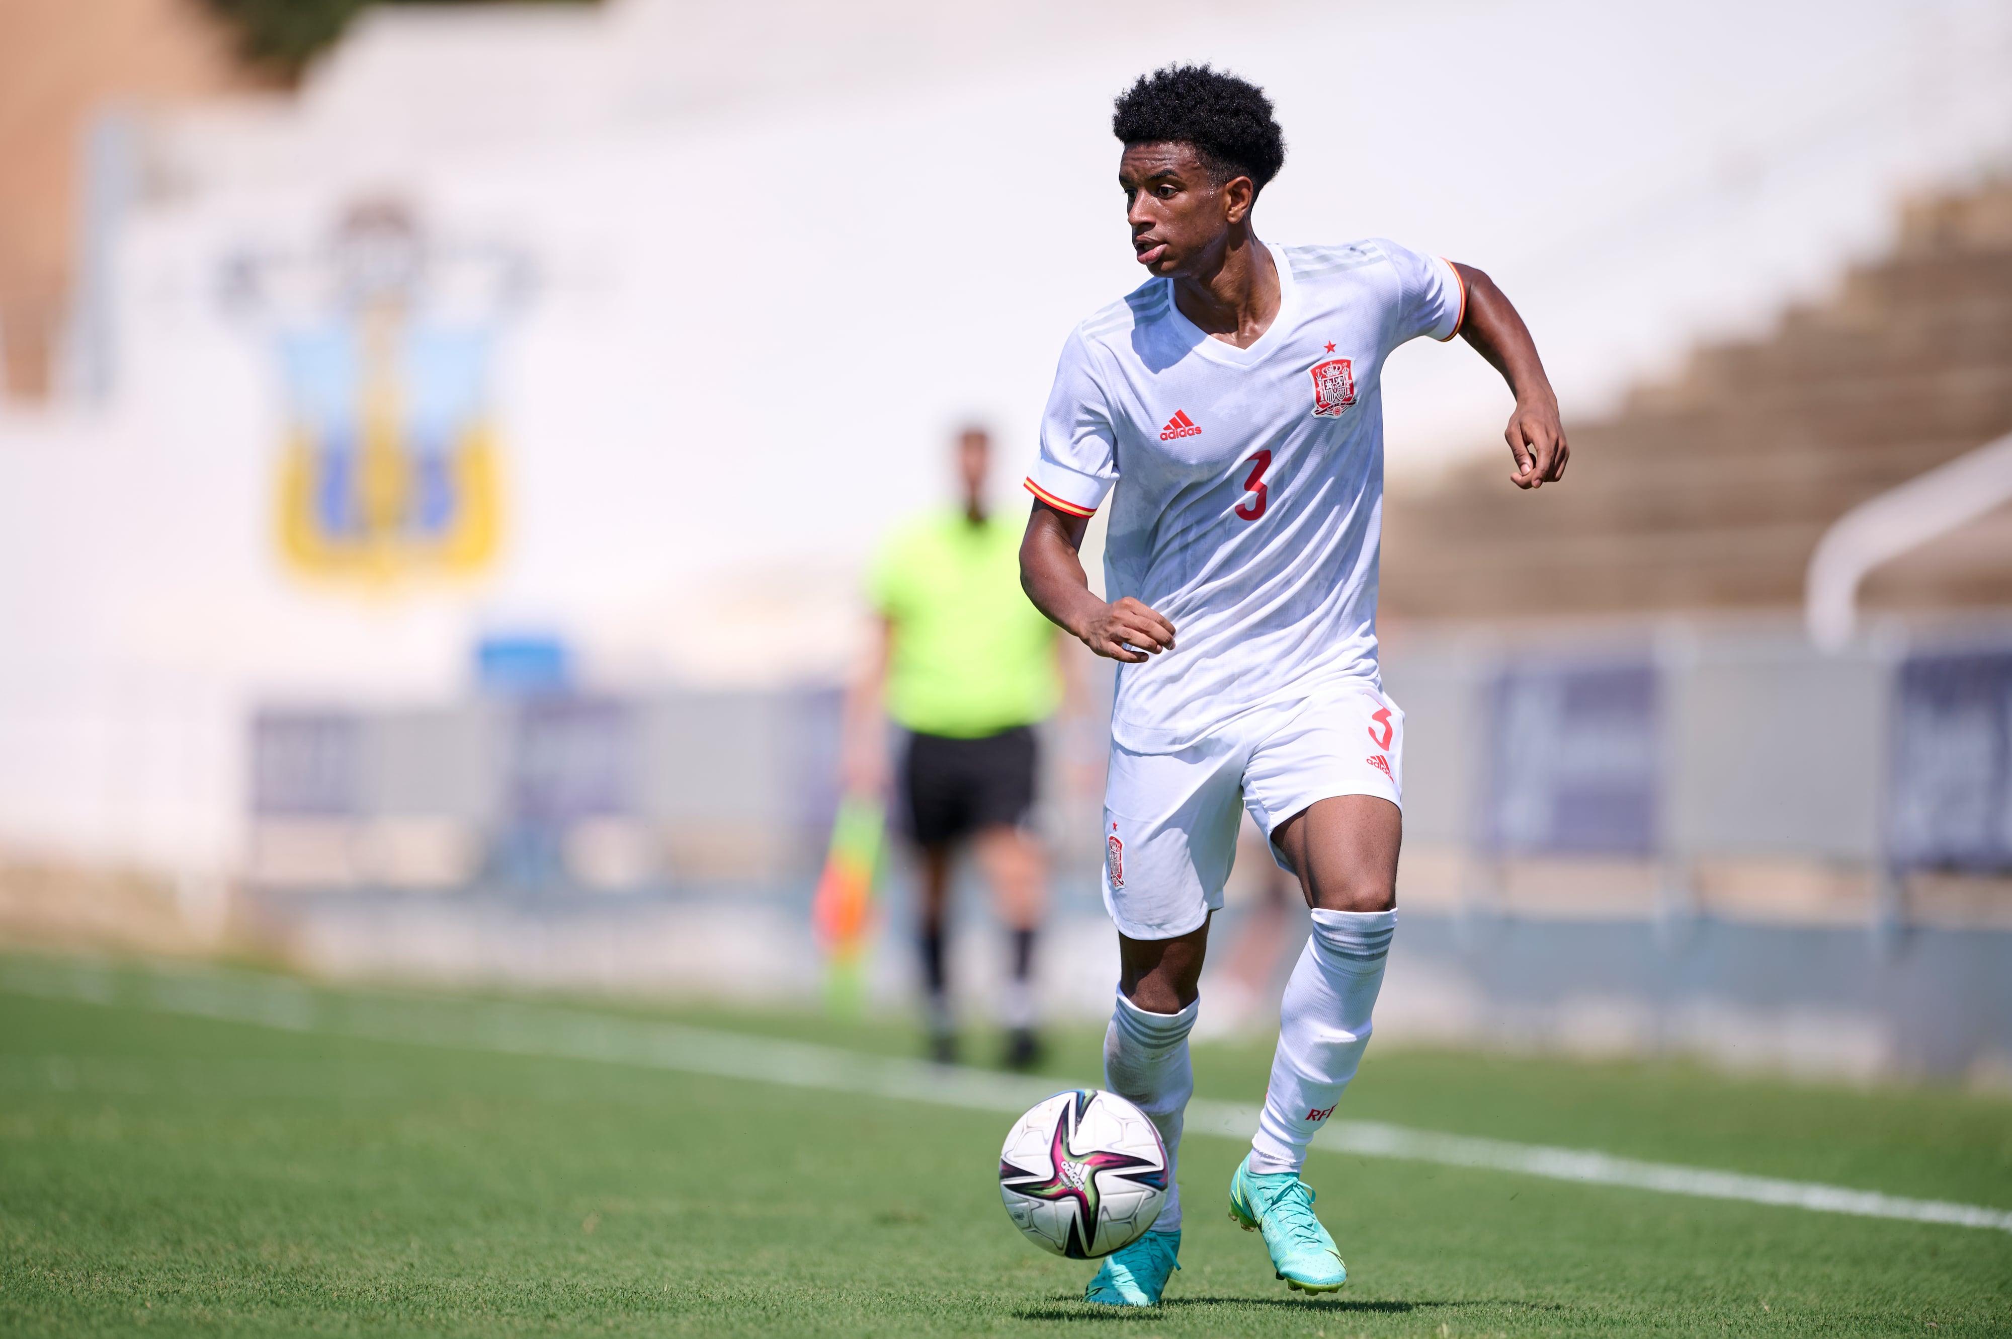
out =
[(1394, 908), (1314, 912), (1314, 934), (1280, 1003), (1278, 1051), (1251, 1140), (1251, 1172), (1298, 1172), (1306, 1162), (1306, 1146), (1334, 1113), (1370, 1043), (1370, 1011), (1394, 932)]

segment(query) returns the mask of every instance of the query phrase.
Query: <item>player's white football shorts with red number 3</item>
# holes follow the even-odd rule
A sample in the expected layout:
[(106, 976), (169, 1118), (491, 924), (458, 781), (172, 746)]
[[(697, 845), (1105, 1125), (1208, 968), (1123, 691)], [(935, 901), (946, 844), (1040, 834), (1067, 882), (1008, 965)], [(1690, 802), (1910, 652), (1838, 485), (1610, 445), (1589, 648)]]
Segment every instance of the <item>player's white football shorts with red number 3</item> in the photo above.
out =
[[(1368, 681), (1258, 709), (1175, 753), (1111, 745), (1105, 908), (1127, 938), (1187, 934), (1223, 906), (1237, 809), (1274, 830), (1316, 799), (1402, 805), (1404, 713)], [(1272, 858), (1286, 868), (1278, 848)]]

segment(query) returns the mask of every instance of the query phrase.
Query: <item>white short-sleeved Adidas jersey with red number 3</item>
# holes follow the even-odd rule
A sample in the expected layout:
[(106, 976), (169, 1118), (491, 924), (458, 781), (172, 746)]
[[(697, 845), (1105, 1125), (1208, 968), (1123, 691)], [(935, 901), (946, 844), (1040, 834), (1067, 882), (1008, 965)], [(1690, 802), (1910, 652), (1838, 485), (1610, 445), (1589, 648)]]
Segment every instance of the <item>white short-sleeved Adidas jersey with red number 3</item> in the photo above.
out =
[(1119, 668), (1113, 737), (1185, 749), (1258, 707), (1376, 668), (1382, 366), (1461, 328), (1445, 260), (1394, 242), (1274, 246), (1280, 310), (1249, 348), (1149, 280), (1068, 336), (1028, 489), (1091, 515), (1111, 495), (1105, 594), (1175, 626)]

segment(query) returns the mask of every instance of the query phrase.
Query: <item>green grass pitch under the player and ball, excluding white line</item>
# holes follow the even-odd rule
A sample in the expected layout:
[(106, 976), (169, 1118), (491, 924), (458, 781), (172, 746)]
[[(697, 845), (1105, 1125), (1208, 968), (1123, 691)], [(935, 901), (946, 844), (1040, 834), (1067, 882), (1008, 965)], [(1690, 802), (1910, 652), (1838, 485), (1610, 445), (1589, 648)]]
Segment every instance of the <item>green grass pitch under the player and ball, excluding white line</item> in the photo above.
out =
[[(889, 1023), (648, 1017), (915, 1043)], [(1197, 1047), (1197, 1093), (1255, 1101), (1268, 1059)], [(1058, 1037), (1052, 1069), (1093, 1077), (1097, 1037)], [(2012, 1103), (1954, 1091), (1372, 1049), (1346, 1115), (2012, 1206)], [(1093, 1309), (1091, 1267), (1000, 1208), (1004, 1128), (0, 991), (0, 1333), (2012, 1333), (2012, 1232), (1338, 1154), (1308, 1180), (1352, 1281), (1308, 1301), (1227, 1220), (1243, 1150), (1219, 1138), (1183, 1150), (1167, 1305)]]

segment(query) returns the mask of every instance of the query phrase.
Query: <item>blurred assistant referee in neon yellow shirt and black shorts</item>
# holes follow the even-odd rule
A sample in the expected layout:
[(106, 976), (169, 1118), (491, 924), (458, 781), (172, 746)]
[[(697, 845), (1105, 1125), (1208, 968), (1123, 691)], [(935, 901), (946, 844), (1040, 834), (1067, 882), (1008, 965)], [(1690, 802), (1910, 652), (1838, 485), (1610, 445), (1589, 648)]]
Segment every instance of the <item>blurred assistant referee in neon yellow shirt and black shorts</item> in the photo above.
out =
[(879, 614), (873, 652), (847, 701), (845, 783), (887, 791), (881, 709), (901, 727), (893, 817), (919, 866), (921, 977), (930, 1055), (958, 1053), (944, 964), (952, 858), (970, 850), (1012, 934), (1010, 981), (1000, 1001), (1006, 1063), (1032, 1065), (1034, 930), (1046, 902), (1048, 862), (1032, 832), (1038, 771), (1034, 725), (1062, 697), (1062, 644), (1020, 592), (1020, 524), (986, 511), (990, 439), (958, 435), (962, 505), (919, 515), (881, 546), (871, 572)]

